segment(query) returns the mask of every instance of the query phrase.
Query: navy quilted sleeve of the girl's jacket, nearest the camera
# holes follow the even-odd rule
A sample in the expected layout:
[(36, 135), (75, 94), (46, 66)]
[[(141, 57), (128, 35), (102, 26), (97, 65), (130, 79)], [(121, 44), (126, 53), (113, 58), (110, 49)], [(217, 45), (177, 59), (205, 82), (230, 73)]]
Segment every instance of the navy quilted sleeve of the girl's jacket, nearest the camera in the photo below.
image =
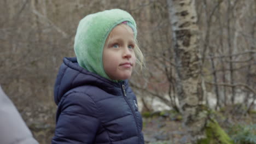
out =
[(84, 93), (62, 98), (52, 143), (94, 143), (100, 127), (94, 101)]

